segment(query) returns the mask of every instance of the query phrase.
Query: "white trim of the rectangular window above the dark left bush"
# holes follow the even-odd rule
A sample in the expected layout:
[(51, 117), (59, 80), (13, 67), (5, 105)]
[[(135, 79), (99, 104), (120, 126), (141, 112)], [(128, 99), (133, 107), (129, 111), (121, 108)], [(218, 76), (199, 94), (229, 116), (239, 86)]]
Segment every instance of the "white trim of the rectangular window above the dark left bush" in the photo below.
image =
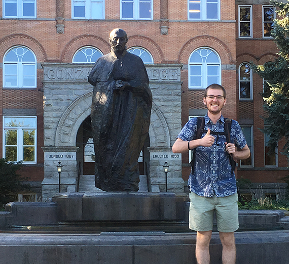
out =
[[(35, 127), (13, 127), (13, 126), (5, 126), (4, 119), (5, 117), (15, 117), (15, 118), (21, 118), (21, 117), (34, 117), (35, 118)], [(15, 116), (15, 115), (5, 115), (3, 116), (2, 119), (3, 123), (3, 157), (6, 157), (5, 153), (5, 130), (16, 130), (17, 129), (17, 161), (23, 160), (23, 129), (34, 129), (35, 130), (35, 150), (34, 150), (34, 155), (35, 155), (35, 160), (34, 161), (23, 161), (23, 164), (36, 164), (37, 163), (37, 116)]]

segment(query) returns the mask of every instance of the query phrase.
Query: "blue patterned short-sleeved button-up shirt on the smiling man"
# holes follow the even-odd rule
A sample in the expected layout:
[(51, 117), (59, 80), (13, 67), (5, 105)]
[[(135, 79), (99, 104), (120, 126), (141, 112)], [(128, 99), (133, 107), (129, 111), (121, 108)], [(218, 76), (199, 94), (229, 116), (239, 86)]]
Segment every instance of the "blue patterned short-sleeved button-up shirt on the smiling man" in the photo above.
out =
[[(213, 124), (209, 117), (205, 116), (204, 130), (224, 132), (225, 120), (223, 115)], [(185, 124), (177, 138), (190, 141), (196, 138), (197, 118), (192, 118)], [(202, 137), (206, 135), (204, 132)], [(215, 142), (211, 147), (197, 147), (194, 174), (190, 174), (188, 186), (191, 192), (204, 197), (225, 197), (237, 192), (235, 173), (229, 160), (229, 154), (225, 150), (225, 135), (212, 135)], [(217, 137), (218, 142), (217, 142)], [(242, 149), (246, 145), (245, 137), (239, 123), (232, 120), (231, 143)]]

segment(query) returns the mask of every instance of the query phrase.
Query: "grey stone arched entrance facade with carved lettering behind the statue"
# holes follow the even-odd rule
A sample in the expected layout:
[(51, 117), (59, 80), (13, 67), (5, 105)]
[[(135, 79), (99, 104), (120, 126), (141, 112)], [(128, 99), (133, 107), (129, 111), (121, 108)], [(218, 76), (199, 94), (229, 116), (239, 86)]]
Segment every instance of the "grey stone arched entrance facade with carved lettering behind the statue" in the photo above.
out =
[[(58, 192), (56, 165), (63, 165), (61, 191), (75, 192), (78, 175), (76, 138), (90, 115), (93, 87), (87, 81), (91, 65), (44, 63), (44, 180), (43, 200)], [(184, 191), (182, 157), (171, 145), (182, 128), (180, 70), (182, 64), (147, 65), (153, 94), (149, 130), (149, 175), (153, 190), (165, 189), (162, 165), (168, 162), (168, 190)]]

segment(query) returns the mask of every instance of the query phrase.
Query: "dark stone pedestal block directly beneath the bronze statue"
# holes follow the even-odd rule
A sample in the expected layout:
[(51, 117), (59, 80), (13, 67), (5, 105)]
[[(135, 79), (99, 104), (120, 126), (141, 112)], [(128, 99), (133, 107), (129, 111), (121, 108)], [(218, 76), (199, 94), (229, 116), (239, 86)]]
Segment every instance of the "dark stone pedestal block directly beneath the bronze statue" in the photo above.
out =
[(60, 193), (59, 222), (184, 221), (188, 195), (175, 193)]

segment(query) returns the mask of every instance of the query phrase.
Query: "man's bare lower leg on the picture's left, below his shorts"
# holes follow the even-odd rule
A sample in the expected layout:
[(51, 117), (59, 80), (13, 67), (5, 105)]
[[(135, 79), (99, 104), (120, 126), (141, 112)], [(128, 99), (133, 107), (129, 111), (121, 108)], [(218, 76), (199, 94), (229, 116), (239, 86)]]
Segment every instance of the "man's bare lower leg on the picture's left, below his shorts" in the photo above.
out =
[(209, 244), (211, 236), (212, 231), (197, 232), (196, 258), (198, 264), (210, 263)]

